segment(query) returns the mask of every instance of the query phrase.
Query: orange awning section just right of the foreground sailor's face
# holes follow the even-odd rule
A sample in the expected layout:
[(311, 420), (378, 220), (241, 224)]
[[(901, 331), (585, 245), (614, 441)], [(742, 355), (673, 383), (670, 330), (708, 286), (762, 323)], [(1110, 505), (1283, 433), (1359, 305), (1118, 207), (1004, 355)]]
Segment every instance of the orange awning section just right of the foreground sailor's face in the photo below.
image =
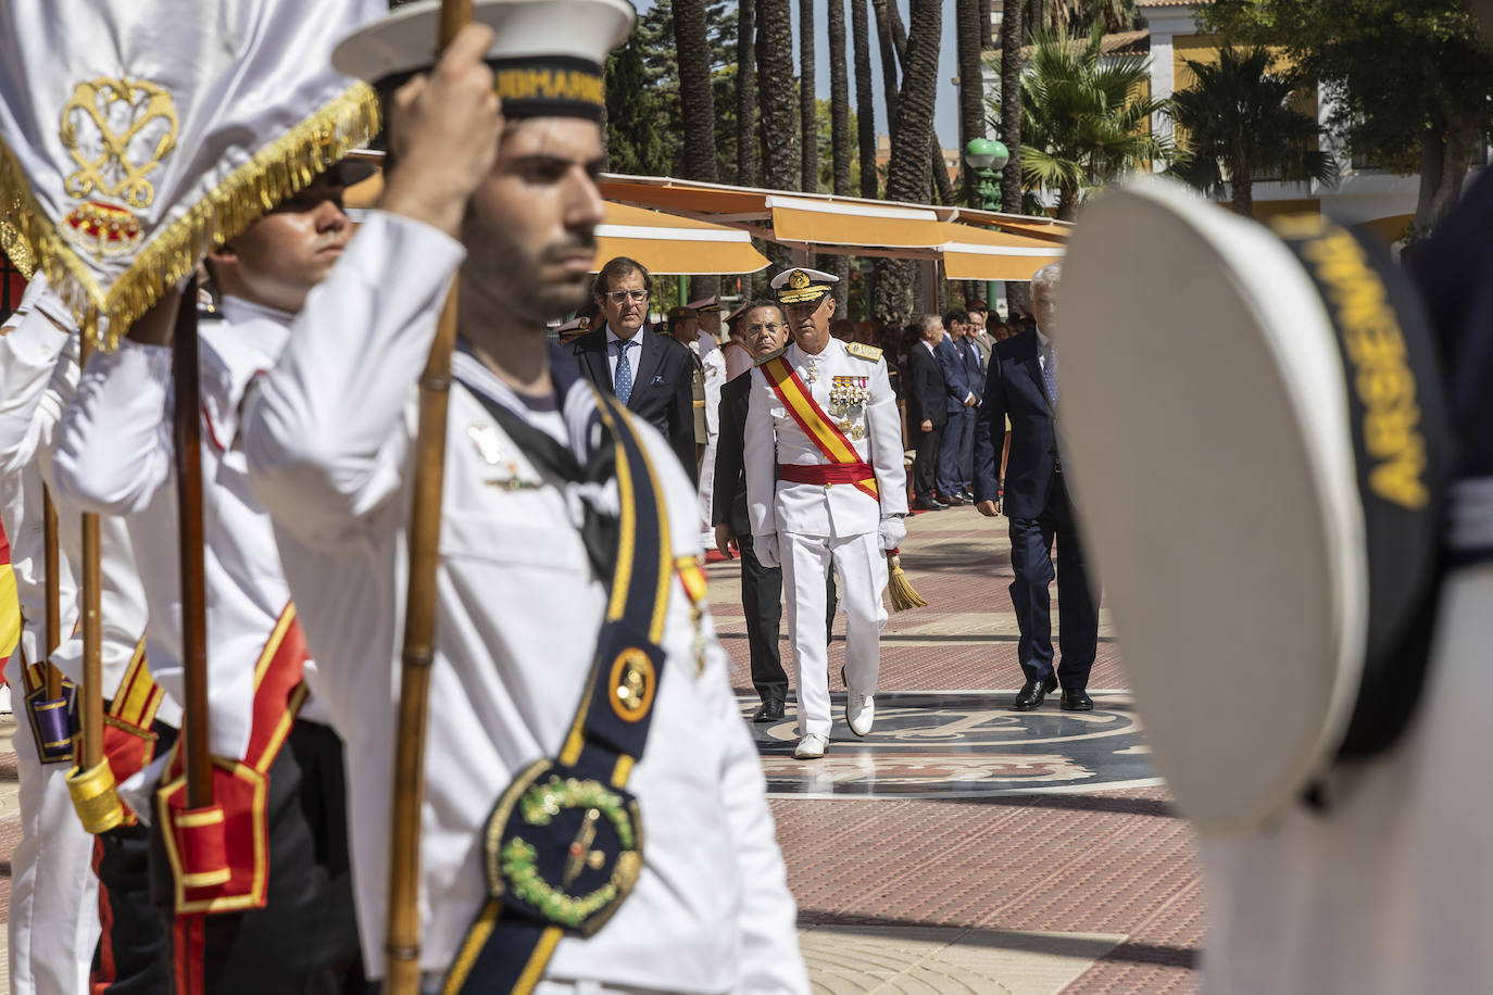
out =
[(739, 228), (629, 204), (606, 204), (596, 240), (596, 270), (620, 255), (638, 260), (651, 273), (685, 276), (755, 273), (767, 266), (751, 236)]

